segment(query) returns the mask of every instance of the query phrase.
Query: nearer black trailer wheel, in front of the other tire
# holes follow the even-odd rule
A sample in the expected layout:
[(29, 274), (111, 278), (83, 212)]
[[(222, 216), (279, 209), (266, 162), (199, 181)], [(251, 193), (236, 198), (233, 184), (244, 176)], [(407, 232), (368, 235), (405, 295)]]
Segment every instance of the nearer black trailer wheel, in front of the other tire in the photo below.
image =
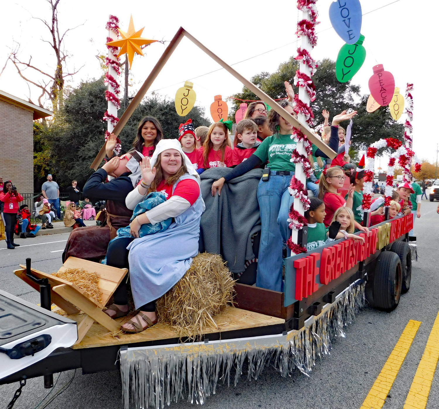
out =
[(392, 311), (398, 306), (403, 274), (401, 260), (392, 251), (383, 251), (377, 259), (374, 276), (374, 307)]

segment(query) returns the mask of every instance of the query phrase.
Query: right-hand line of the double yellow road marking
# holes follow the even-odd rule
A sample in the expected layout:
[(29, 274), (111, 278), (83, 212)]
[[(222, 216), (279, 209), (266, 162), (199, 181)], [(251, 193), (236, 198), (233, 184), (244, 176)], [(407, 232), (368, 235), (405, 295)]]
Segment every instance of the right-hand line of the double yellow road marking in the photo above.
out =
[(421, 361), (417, 366), (404, 409), (424, 409), (432, 386), (439, 359), (439, 313), (425, 345)]

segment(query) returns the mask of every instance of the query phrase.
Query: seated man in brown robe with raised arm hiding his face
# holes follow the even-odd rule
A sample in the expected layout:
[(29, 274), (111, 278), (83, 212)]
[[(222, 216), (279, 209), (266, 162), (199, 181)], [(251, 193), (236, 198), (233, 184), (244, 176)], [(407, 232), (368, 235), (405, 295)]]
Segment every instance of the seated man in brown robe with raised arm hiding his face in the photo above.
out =
[(115, 161), (119, 161), (119, 158), (113, 158), (94, 172), (83, 188), (85, 196), (106, 200), (106, 212), (103, 211), (100, 217), (103, 223), (101, 226), (79, 227), (73, 230), (62, 253), (63, 262), (70, 256), (99, 262), (107, 254), (108, 243), (116, 237), (117, 229), (130, 224), (133, 210), (125, 206), (125, 198), (134, 188), (130, 178), (131, 172), (122, 173), (119, 177), (104, 183), (108, 176), (107, 171), (114, 174), (112, 162), (115, 164)]

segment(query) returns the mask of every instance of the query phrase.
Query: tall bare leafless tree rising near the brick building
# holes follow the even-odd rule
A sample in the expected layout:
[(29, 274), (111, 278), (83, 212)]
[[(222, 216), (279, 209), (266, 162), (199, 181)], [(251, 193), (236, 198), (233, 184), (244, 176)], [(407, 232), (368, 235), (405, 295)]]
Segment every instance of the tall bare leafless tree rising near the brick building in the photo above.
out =
[[(38, 103), (40, 107), (43, 107), (42, 99), (44, 96), (46, 96), (49, 98), (50, 102), (52, 103), (52, 107), (56, 112), (62, 106), (65, 78), (75, 75), (81, 68), (83, 68), (82, 66), (74, 72), (64, 71), (66, 59), (68, 57), (68, 53), (67, 51), (65, 51), (64, 48), (64, 42), (63, 42), (64, 36), (70, 30), (73, 30), (83, 24), (80, 24), (74, 28), (68, 28), (67, 30), (65, 30), (65, 32), (62, 35), (60, 35), (58, 28), (58, 9), (57, 9), (60, 0), (46, 0), (46, 1), (47, 3), (50, 4), (50, 8), (52, 11), (51, 20), (48, 22), (41, 18), (36, 18), (36, 17), (35, 18), (37, 20), (40, 20), (50, 32), (50, 41), (43, 39), (43, 42), (50, 44), (50, 46), (54, 50), (56, 57), (56, 66), (55, 66), (54, 74), (50, 74), (34, 66), (32, 64), (32, 55), (29, 56), (29, 60), (27, 58), (25, 60), (22, 60), (18, 56), (20, 49), (19, 43), (16, 43), (16, 46), (14, 47), (14, 50), (11, 51), (8, 60), (10, 60), (12, 64), (14, 64), (15, 68), (18, 71), (18, 75), (20, 75), (20, 77), (22, 77), (28, 83), (31, 83), (35, 85), (37, 88), (41, 89), (41, 95), (38, 97)], [(27, 76), (25, 76), (25, 70), (27, 70), (28, 68), (34, 71), (38, 71), (40, 74), (43, 75), (44, 79), (41, 79), (39, 82), (34, 82), (30, 80)]]

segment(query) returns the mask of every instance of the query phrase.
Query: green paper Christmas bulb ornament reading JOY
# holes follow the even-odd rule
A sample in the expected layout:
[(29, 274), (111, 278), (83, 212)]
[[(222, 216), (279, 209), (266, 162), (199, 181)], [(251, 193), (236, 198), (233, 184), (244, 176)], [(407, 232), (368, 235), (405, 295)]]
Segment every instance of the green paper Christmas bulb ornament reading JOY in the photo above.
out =
[(345, 44), (338, 52), (335, 73), (339, 82), (348, 82), (363, 65), (366, 59), (363, 41), (364, 36), (360, 36), (355, 44)]

